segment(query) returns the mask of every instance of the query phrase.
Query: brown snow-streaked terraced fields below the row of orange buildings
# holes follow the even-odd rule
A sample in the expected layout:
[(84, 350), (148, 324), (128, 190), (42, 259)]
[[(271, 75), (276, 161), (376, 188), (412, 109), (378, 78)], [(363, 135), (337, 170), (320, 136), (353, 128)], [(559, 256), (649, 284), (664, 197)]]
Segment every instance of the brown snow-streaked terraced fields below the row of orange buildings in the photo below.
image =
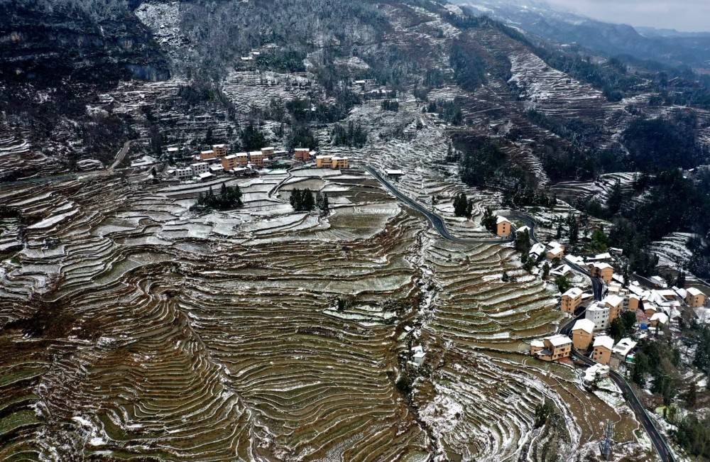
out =
[[(420, 199), (458, 190), (432, 170), (432, 135), (403, 180)], [(378, 150), (409, 161), (404, 145)], [(512, 249), (452, 246), (368, 175), (324, 172), (231, 180), (245, 195), (280, 185), (273, 206), (202, 216), (187, 211), (189, 187), (136, 192), (98, 177), (4, 189), (34, 218), (0, 269), (0, 323), (13, 323), (0, 334), (4, 403), (14, 403), (0, 455), (499, 460), (535, 445), (525, 435), (544, 396), (577, 422), (572, 441), (598, 437), (582, 419), (603, 403), (564, 368), (520, 365), (525, 340), (562, 315)], [(303, 182), (329, 192), (329, 216), (291, 211)], [(432, 374), (407, 365), (413, 342)], [(405, 370), (411, 394), (395, 385)], [(546, 385), (558, 376), (572, 391)], [(450, 422), (437, 417), (459, 407)]]

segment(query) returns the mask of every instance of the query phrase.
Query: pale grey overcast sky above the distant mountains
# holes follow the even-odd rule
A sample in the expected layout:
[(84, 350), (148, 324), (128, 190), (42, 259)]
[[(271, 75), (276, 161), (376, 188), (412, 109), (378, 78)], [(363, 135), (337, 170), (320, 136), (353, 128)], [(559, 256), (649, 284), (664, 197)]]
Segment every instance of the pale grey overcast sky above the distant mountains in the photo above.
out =
[(710, 0), (547, 0), (590, 18), (632, 26), (710, 31)]

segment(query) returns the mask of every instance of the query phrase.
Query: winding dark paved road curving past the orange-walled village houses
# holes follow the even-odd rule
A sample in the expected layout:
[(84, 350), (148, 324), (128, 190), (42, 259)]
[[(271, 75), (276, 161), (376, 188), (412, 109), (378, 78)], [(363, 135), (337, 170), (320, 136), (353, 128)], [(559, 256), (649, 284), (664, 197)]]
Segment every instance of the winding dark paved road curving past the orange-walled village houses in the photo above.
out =
[[(449, 231), (447, 230), (446, 224), (444, 223), (444, 219), (441, 216), (435, 214), (419, 202), (415, 201), (414, 199), (411, 199), (407, 195), (400, 192), (399, 189), (397, 189), (394, 185), (391, 184), (391, 182), (389, 182), (382, 175), (380, 175), (380, 173), (373, 167), (366, 165), (365, 170), (370, 172), (371, 175), (375, 177), (376, 180), (381, 182), (382, 185), (384, 185), (384, 187), (386, 187), (390, 192), (392, 192), (395, 197), (397, 197), (405, 204), (409, 205), (413, 209), (419, 211), (421, 214), (426, 216), (427, 219), (434, 226), (434, 228), (437, 230), (437, 232), (442, 236), (442, 238), (447, 239), (448, 241), (453, 241), (457, 243), (506, 243), (512, 241), (513, 239), (512, 237), (507, 239), (463, 239), (452, 236), (451, 233), (449, 233)], [(537, 237), (535, 237), (535, 220), (532, 219), (532, 217), (524, 214), (511, 214), (508, 215), (507, 218), (523, 221), (523, 223), (530, 227), (530, 238), (532, 239), (532, 241), (535, 243), (539, 242), (537, 240)], [(592, 290), (594, 290), (594, 299), (600, 300), (601, 293), (603, 290), (603, 284), (601, 280), (599, 280), (598, 277), (592, 277), (589, 274), (589, 271), (577, 265), (577, 263), (573, 263), (572, 261), (567, 260), (567, 257), (564, 258), (564, 261), (573, 270), (585, 275), (586, 277), (589, 277), (589, 280), (591, 280)], [(572, 331), (572, 326), (574, 326), (574, 323), (578, 319), (581, 319), (581, 317), (584, 317), (584, 309), (582, 309), (581, 312), (579, 312), (578, 314), (575, 314), (572, 319), (569, 319), (569, 321), (567, 321), (567, 323), (563, 324), (562, 327), (559, 329), (559, 333), (569, 335)], [(572, 356), (578, 361), (581, 361), (581, 363), (586, 364), (587, 366), (594, 365), (594, 361), (582, 355), (581, 353), (579, 353), (579, 351), (575, 349), (572, 350)], [(670, 453), (670, 450), (668, 449), (668, 444), (665, 441), (665, 438), (663, 438), (660, 432), (656, 429), (650, 417), (648, 417), (645, 408), (641, 404), (640, 400), (638, 400), (638, 397), (633, 392), (633, 389), (630, 387), (630, 385), (628, 385), (626, 380), (621, 377), (621, 375), (618, 375), (618, 373), (614, 372), (613, 370), (610, 372), (609, 376), (611, 377), (611, 380), (613, 380), (613, 382), (616, 383), (616, 385), (618, 385), (618, 387), (621, 389), (621, 391), (623, 392), (624, 399), (626, 399), (626, 402), (628, 402), (628, 405), (631, 407), (631, 409), (633, 409), (633, 412), (636, 414), (638, 420), (641, 422), (641, 424), (643, 424), (643, 428), (646, 430), (646, 433), (648, 433), (648, 436), (650, 437), (653, 443), (653, 447), (658, 453), (658, 456), (660, 457), (661, 461), (673, 462), (674, 458), (672, 456), (672, 453)]]

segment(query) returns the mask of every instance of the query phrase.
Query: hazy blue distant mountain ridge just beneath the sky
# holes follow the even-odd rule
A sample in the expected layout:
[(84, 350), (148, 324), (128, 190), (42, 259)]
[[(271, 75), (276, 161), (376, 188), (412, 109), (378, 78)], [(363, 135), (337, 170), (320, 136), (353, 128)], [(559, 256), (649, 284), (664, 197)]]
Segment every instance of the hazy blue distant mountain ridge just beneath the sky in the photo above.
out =
[(540, 1), (458, 0), (462, 8), (490, 16), (526, 33), (577, 44), (603, 55), (632, 55), (667, 65), (710, 68), (710, 33), (681, 33), (605, 23), (560, 11)]

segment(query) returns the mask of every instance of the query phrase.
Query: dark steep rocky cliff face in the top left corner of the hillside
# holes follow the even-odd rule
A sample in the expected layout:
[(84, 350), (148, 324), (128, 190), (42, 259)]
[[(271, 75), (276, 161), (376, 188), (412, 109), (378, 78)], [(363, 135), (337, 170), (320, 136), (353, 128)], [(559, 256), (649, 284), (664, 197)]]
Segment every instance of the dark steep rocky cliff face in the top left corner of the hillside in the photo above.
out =
[(150, 31), (126, 9), (97, 17), (77, 8), (0, 6), (0, 79), (41, 86), (61, 79), (165, 79), (168, 64)]

